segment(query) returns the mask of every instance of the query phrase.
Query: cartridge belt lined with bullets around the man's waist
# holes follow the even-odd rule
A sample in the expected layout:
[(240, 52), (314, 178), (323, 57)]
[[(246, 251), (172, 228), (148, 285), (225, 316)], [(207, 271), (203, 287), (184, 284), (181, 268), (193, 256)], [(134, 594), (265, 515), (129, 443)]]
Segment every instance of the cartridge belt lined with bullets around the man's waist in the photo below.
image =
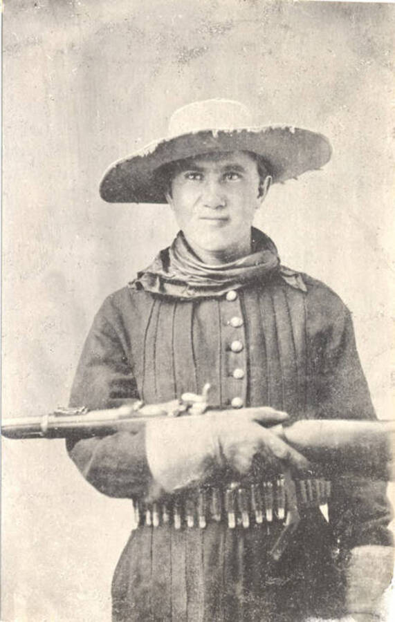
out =
[[(302, 512), (311, 507), (327, 505), (331, 482), (324, 479), (294, 480), (297, 508)], [(226, 522), (229, 529), (241, 526), (286, 522), (287, 491), (285, 480), (241, 483), (227, 487), (207, 486), (178, 493), (167, 500), (147, 503), (134, 500), (134, 529), (146, 525), (172, 525), (174, 529), (199, 527), (209, 521)]]

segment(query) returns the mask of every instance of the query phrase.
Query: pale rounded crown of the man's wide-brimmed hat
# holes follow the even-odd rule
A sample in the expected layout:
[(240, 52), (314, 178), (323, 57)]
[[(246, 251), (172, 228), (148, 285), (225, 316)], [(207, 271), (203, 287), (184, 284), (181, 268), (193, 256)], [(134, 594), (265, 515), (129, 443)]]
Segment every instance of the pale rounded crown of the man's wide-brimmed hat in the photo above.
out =
[(252, 116), (244, 104), (233, 100), (204, 100), (187, 104), (172, 114), (168, 138), (209, 129), (251, 126)]

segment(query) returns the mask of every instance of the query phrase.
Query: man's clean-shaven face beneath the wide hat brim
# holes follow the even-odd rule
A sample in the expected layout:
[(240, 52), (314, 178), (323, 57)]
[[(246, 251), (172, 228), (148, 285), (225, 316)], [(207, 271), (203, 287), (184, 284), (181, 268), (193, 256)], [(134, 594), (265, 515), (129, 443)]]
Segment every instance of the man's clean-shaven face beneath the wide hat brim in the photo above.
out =
[[(235, 256), (250, 248), (259, 196), (257, 162), (244, 151), (190, 158), (176, 172), (169, 205), (193, 249)], [(239, 253), (240, 254), (240, 253)]]

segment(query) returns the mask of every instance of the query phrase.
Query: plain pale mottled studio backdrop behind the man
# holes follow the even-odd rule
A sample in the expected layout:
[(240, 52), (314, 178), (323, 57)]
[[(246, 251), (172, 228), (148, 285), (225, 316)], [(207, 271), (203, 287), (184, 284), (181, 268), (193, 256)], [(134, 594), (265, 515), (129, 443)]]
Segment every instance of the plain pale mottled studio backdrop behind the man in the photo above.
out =
[[(255, 224), (349, 305), (390, 417), (395, 6), (12, 0), (3, 25), (3, 417), (67, 404), (102, 300), (176, 232), (167, 207), (100, 200), (102, 172), (210, 97), (329, 137), (331, 162), (270, 189)], [(109, 620), (128, 500), (62, 440), (3, 440), (2, 518), (3, 622)]]

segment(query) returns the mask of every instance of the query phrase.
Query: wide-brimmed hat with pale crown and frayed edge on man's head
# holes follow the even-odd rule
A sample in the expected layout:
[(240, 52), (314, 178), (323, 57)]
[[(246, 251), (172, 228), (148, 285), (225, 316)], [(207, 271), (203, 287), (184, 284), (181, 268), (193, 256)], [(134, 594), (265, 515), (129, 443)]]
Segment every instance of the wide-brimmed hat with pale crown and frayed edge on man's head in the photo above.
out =
[(166, 138), (111, 164), (100, 183), (100, 196), (112, 203), (165, 203), (158, 169), (215, 151), (256, 153), (273, 182), (320, 169), (331, 158), (329, 140), (320, 133), (289, 125), (254, 126), (244, 104), (205, 100), (175, 111)]

